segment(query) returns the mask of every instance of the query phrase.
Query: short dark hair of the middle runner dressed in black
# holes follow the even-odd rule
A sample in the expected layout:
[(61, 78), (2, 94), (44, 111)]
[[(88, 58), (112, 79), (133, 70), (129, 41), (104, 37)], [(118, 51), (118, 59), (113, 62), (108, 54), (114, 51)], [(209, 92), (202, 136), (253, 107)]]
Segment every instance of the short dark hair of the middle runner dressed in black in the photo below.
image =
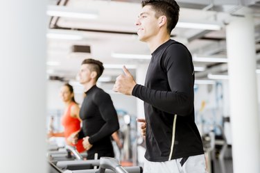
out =
[(98, 78), (101, 76), (101, 74), (103, 74), (104, 71), (103, 63), (101, 63), (99, 60), (89, 58), (83, 60), (83, 62), (81, 63), (81, 65), (85, 64), (89, 64), (91, 66), (89, 69), (90, 71), (96, 72), (96, 81), (98, 81)]

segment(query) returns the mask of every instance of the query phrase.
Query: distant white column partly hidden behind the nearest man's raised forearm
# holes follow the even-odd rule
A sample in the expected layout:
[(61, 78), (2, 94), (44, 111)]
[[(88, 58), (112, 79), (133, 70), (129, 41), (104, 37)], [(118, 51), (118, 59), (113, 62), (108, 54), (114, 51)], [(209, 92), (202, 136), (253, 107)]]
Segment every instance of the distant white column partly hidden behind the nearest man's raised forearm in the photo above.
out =
[[(146, 80), (146, 72), (148, 64), (140, 64), (137, 66), (136, 82), (140, 85), (144, 85)], [(137, 117), (144, 118), (144, 101), (137, 99)]]

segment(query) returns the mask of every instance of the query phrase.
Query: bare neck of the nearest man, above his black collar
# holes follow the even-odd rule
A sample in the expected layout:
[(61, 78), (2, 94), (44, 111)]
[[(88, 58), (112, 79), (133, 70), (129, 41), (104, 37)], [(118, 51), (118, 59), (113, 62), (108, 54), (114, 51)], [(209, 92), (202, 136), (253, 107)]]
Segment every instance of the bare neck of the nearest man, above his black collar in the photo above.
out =
[(150, 40), (147, 41), (150, 53), (153, 53), (159, 46), (164, 44), (164, 42), (170, 40), (170, 38), (171, 36), (166, 33), (158, 33), (155, 37), (150, 38)]

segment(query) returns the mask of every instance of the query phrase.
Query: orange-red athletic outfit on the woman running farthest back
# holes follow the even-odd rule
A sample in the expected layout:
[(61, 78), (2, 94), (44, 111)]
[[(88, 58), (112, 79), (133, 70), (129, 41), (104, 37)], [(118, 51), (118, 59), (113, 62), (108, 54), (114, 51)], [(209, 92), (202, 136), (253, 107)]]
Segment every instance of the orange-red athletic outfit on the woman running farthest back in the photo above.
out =
[[(78, 118), (76, 117), (71, 117), (71, 107), (73, 105), (75, 105), (75, 103), (72, 102), (69, 105), (67, 111), (64, 112), (64, 115), (62, 116), (62, 125), (64, 126), (64, 137), (66, 139), (66, 142), (67, 142), (67, 138), (71, 135), (71, 133), (80, 130), (80, 120), (78, 120)], [(68, 144), (68, 145), (72, 145), (72, 144)], [(83, 139), (78, 140), (78, 143), (72, 146), (75, 146), (78, 152), (80, 153), (85, 151), (83, 147)]]

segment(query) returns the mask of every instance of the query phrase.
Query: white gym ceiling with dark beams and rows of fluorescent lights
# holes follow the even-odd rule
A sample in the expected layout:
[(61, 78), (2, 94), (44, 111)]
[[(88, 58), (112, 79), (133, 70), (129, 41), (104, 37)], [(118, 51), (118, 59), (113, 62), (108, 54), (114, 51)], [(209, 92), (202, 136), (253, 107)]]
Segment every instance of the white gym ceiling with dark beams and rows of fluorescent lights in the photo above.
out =
[[(225, 44), (225, 24), (234, 16), (251, 13), (254, 16), (257, 58), (260, 59), (260, 1), (239, 0), (182, 0), (180, 23), (214, 24), (220, 30), (176, 27), (172, 38), (184, 43), (193, 55), (193, 63), (198, 67), (196, 79), (207, 79), (208, 74), (227, 74), (227, 63), (197, 62), (196, 58), (227, 58)], [(51, 10), (67, 12), (69, 17), (49, 14), (47, 33), (47, 74), (49, 79), (75, 81), (80, 63), (85, 58), (101, 60), (105, 64), (104, 82), (113, 82), (122, 73), (121, 66), (135, 68), (148, 64), (148, 59), (112, 57), (113, 53), (147, 55), (150, 51), (144, 42), (137, 39), (135, 21), (141, 10), (140, 1), (108, 0), (49, 0)], [(94, 19), (73, 17), (74, 13), (96, 15)], [(60, 15), (59, 15), (60, 16)], [(73, 52), (74, 45), (85, 46)], [(77, 48), (77, 47), (76, 47)], [(75, 49), (74, 49), (75, 51)], [(258, 60), (260, 66), (260, 61)], [(110, 67), (112, 65), (112, 67)], [(117, 67), (118, 65), (119, 67)], [(102, 82), (102, 79), (101, 79)]]

